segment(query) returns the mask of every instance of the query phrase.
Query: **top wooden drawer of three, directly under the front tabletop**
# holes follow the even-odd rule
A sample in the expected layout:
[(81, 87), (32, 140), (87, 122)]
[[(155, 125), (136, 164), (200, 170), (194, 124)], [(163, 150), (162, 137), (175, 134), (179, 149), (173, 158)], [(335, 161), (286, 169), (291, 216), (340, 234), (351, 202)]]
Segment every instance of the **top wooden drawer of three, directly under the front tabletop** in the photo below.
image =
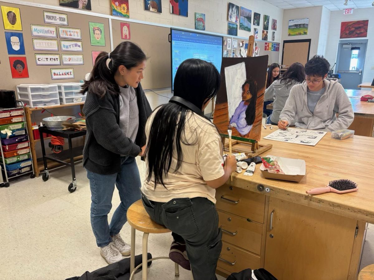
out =
[(223, 185), (216, 190), (217, 209), (264, 223), (265, 195)]

